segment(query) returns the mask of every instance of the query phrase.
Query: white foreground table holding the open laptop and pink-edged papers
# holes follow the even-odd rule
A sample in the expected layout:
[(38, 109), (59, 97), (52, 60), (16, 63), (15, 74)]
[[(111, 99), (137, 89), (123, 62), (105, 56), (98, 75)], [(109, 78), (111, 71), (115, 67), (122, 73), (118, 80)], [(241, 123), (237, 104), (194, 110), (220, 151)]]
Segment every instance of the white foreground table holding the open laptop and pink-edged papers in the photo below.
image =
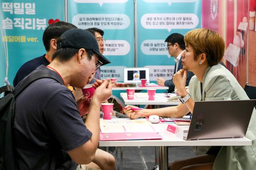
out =
[(167, 146), (250, 146), (252, 141), (243, 138), (220, 138), (206, 140), (184, 140), (182, 129), (188, 130), (189, 126), (177, 126), (178, 134), (168, 132), (167, 123), (153, 124), (159, 128), (163, 136), (162, 140), (119, 140), (119, 141), (100, 141), (99, 146), (160, 146), (159, 148), (159, 169), (168, 169), (168, 147)]

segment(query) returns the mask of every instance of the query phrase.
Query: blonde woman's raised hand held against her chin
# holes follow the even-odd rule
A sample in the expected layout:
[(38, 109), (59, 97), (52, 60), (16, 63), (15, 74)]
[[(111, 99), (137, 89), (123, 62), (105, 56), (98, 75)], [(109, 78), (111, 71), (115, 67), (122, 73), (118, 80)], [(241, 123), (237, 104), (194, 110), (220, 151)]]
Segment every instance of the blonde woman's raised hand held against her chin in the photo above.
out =
[(184, 69), (180, 69), (177, 73), (175, 73), (172, 77), (172, 82), (177, 88), (177, 92), (181, 97), (185, 97), (187, 95), (186, 92), (186, 81), (187, 81), (188, 71)]

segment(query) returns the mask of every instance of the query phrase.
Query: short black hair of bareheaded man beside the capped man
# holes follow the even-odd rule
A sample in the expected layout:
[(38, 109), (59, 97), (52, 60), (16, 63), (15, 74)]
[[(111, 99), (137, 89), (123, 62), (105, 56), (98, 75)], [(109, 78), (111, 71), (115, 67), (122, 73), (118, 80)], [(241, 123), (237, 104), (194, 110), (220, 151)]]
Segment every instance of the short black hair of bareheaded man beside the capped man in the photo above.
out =
[(50, 50), (50, 40), (53, 38), (57, 39), (63, 34), (66, 30), (70, 30), (73, 28), (77, 28), (73, 24), (70, 24), (68, 22), (54, 22), (50, 26), (48, 26), (44, 30), (43, 34), (43, 43), (46, 51)]

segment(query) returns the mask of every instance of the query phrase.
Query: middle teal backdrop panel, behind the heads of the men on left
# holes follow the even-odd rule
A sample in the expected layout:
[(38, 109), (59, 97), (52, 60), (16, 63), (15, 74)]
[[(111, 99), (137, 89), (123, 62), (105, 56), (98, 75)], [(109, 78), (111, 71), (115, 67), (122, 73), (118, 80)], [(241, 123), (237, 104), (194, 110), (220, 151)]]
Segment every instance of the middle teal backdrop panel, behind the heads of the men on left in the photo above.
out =
[(81, 29), (104, 31), (104, 53), (111, 63), (102, 66), (102, 78), (124, 81), (124, 67), (134, 67), (134, 1), (69, 0), (68, 21)]

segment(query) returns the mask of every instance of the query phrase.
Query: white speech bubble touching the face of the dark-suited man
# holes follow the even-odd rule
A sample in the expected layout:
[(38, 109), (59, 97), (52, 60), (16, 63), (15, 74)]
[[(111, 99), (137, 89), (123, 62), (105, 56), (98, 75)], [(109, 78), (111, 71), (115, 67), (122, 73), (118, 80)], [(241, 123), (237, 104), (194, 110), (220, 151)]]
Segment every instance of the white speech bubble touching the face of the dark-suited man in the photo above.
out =
[(140, 49), (146, 55), (168, 55), (170, 58), (167, 42), (164, 42), (164, 40), (144, 40)]

